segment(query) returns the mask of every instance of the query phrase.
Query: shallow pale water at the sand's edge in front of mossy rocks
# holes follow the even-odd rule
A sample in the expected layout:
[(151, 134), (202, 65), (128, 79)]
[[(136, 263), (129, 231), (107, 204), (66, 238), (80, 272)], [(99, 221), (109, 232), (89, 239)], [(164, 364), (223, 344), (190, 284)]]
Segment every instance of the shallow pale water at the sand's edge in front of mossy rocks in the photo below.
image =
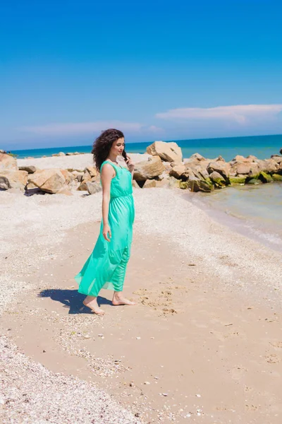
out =
[(190, 193), (186, 199), (219, 222), (282, 252), (282, 183)]

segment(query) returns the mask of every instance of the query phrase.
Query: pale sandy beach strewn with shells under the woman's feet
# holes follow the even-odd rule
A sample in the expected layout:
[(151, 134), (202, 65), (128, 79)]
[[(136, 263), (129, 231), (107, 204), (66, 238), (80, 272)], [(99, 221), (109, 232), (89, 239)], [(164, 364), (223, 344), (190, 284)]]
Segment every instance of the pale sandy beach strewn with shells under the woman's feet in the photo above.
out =
[(281, 254), (185, 196), (134, 189), (124, 290), (137, 306), (113, 307), (103, 290), (97, 317), (73, 276), (97, 239), (101, 192), (0, 193), (2, 422), (281, 422)]

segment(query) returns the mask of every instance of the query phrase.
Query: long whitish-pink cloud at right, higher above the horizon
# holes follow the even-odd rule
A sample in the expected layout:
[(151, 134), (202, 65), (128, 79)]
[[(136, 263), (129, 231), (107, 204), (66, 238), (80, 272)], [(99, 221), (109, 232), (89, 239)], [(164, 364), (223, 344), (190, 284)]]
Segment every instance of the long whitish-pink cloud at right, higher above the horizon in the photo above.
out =
[(269, 119), (282, 111), (282, 105), (235, 105), (219, 107), (186, 107), (157, 113), (161, 119), (221, 119), (245, 124), (249, 119)]

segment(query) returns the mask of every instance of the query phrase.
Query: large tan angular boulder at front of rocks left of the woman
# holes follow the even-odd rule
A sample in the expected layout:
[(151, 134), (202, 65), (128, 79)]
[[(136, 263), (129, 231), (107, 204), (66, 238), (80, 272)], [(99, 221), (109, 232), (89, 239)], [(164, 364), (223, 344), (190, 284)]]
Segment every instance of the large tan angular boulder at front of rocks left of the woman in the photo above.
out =
[(66, 179), (61, 170), (52, 168), (48, 170), (37, 170), (28, 178), (28, 181), (47, 193), (59, 192), (63, 185), (66, 184)]

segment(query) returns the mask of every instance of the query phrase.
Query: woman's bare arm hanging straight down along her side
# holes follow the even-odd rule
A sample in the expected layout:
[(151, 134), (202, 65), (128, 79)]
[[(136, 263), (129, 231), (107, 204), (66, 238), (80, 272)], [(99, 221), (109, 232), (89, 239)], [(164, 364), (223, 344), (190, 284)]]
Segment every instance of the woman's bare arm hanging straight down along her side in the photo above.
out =
[[(111, 193), (111, 179), (115, 176), (114, 168), (105, 163), (102, 167), (101, 172), (101, 182), (103, 189), (103, 199), (102, 199), (102, 218), (103, 218), (103, 237), (107, 242), (111, 240), (111, 228), (109, 228), (109, 202), (110, 202), (110, 193)], [(108, 236), (109, 234), (109, 236)]]

